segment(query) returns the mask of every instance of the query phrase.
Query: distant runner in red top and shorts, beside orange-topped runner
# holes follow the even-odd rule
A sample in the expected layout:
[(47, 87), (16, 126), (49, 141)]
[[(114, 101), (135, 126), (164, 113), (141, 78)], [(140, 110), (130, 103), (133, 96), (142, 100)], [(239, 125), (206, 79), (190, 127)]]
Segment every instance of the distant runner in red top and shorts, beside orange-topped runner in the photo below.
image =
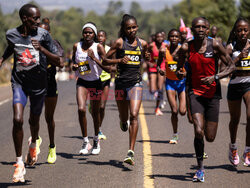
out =
[[(162, 32), (157, 32), (155, 34), (155, 42), (149, 45), (149, 52), (151, 54), (151, 59), (148, 62), (149, 66), (149, 83), (150, 83), (150, 93), (156, 98), (155, 115), (163, 115), (160, 110), (160, 101), (163, 99), (163, 84), (164, 76), (157, 72), (157, 60), (159, 56), (159, 49), (165, 48), (166, 44), (163, 42)], [(161, 69), (165, 70), (165, 61), (161, 63)]]

